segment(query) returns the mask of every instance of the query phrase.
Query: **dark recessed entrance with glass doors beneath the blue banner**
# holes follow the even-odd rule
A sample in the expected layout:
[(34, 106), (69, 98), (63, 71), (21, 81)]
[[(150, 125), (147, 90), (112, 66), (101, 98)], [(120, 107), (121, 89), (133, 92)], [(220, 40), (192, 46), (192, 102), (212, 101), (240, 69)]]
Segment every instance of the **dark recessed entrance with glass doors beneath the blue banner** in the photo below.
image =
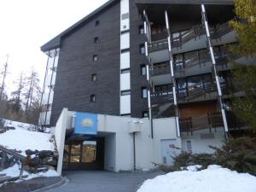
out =
[(63, 170), (103, 170), (104, 138), (67, 140), (64, 148)]

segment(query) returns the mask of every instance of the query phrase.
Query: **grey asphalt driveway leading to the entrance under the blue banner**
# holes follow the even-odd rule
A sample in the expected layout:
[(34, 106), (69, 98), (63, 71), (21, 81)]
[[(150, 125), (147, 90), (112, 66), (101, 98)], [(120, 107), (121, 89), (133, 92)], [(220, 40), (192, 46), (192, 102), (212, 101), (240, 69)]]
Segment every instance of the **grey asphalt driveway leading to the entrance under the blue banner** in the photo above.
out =
[(148, 178), (163, 172), (64, 172), (70, 181), (49, 192), (136, 192)]

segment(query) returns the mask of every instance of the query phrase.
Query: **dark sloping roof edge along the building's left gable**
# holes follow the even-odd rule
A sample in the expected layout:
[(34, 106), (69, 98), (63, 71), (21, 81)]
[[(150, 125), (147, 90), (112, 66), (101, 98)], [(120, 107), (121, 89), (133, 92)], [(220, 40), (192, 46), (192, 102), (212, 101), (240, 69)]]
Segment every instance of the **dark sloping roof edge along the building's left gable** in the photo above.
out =
[(61, 45), (61, 38), (69, 34), (70, 32), (73, 32), (79, 26), (84, 25), (85, 22), (91, 20), (94, 16), (102, 13), (103, 10), (108, 9), (109, 6), (113, 5), (113, 3), (117, 3), (119, 0), (109, 0), (107, 3), (104, 3), (101, 7), (91, 12), (89, 15), (86, 15), (82, 20), (79, 20), (77, 23), (75, 23), (73, 26), (70, 26), (65, 30), (64, 32), (61, 32), (61, 34), (57, 35), (55, 38), (51, 39), (48, 43), (44, 44), (41, 47), (42, 51), (47, 51), (49, 49), (55, 49), (60, 47)]

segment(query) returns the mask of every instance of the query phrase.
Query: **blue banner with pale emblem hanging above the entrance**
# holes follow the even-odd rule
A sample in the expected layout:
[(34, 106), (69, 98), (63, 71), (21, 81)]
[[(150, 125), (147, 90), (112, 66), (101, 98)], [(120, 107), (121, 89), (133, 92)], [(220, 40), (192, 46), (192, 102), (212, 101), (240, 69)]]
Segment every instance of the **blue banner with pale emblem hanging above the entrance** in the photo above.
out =
[(76, 112), (75, 134), (96, 135), (98, 128), (98, 115), (95, 113)]

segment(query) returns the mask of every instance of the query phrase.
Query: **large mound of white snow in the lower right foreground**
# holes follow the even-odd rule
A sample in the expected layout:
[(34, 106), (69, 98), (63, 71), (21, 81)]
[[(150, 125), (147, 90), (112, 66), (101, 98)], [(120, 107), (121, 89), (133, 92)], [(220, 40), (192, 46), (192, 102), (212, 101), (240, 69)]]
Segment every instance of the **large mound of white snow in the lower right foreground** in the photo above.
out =
[(256, 191), (256, 177), (248, 173), (238, 173), (216, 165), (208, 166), (199, 172), (195, 172), (194, 168), (148, 179), (137, 192)]

